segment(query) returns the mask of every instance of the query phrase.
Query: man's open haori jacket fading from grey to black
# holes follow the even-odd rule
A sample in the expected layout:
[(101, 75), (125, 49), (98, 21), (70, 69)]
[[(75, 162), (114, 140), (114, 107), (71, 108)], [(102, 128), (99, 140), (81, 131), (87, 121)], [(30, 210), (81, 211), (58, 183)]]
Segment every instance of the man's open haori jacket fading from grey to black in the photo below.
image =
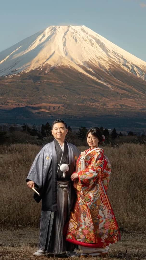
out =
[[(70, 173), (76, 170), (76, 161), (80, 155), (75, 145), (67, 142)], [(40, 202), (42, 199), (42, 210), (57, 211), (57, 154), (55, 140), (45, 145), (37, 154), (26, 181), (34, 181), (38, 196), (34, 194), (34, 199)], [(71, 199), (75, 192), (71, 182)]]

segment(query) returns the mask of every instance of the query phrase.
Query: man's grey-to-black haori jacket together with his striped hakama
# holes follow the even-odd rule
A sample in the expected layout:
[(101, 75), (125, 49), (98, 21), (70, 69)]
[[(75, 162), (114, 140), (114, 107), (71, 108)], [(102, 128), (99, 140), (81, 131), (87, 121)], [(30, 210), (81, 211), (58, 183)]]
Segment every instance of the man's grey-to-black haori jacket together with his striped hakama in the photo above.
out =
[[(37, 202), (42, 199), (39, 249), (62, 254), (63, 251), (73, 250), (75, 247), (65, 242), (63, 238), (64, 212), (68, 211), (67, 214), (70, 212), (75, 200), (75, 191), (71, 181), (65, 181), (65, 179), (64, 182), (57, 181), (58, 164), (55, 142), (56, 140), (45, 145), (37, 154), (26, 181), (34, 181), (40, 193), (40, 196), (35, 193), (34, 199)], [(68, 142), (67, 146), (69, 171), (72, 174), (76, 170), (76, 161), (80, 152), (76, 146)], [(70, 209), (66, 207), (66, 203)]]

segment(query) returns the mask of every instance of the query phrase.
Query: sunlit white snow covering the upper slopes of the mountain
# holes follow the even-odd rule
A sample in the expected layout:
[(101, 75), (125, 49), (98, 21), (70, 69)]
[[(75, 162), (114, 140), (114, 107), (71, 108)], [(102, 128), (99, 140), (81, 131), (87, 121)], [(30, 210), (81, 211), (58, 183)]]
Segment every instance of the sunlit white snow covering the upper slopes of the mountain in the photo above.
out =
[(146, 80), (146, 62), (84, 25), (50, 26), (0, 53), (0, 76), (46, 65), (69, 66), (96, 81), (100, 80), (94, 77), (92, 65), (109, 72), (112, 66), (120, 66)]

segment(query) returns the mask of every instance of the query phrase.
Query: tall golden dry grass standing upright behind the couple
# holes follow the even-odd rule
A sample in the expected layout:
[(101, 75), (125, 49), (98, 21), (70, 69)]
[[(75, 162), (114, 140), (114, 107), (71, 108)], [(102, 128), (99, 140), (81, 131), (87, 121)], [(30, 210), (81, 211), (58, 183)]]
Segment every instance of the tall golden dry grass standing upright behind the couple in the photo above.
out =
[[(0, 148), (0, 225), (38, 227), (41, 203), (33, 200), (25, 178), (41, 147), (12, 144)], [(108, 196), (119, 226), (123, 230), (146, 230), (146, 146), (107, 146), (104, 153), (112, 164)]]

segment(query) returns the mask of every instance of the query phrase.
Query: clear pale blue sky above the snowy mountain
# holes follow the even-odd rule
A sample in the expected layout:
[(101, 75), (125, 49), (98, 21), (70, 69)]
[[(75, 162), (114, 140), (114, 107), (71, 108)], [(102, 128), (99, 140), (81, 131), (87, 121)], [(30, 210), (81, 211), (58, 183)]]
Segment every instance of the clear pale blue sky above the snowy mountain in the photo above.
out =
[(146, 61), (146, 0), (5, 0), (0, 51), (50, 25), (85, 25)]

